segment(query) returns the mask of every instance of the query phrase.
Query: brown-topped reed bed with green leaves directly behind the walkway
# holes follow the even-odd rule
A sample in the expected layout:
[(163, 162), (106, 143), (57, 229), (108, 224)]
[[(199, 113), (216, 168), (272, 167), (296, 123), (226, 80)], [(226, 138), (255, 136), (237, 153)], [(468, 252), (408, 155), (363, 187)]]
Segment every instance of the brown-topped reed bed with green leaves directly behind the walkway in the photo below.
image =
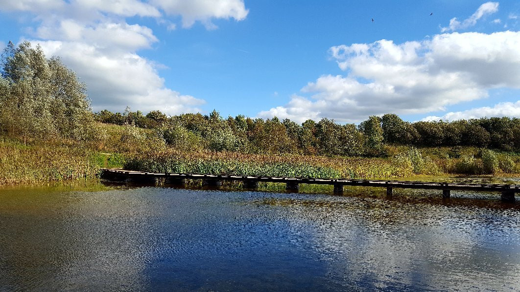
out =
[(237, 152), (151, 151), (127, 157), (125, 169), (196, 174), (309, 178), (392, 178), (410, 176), (387, 158), (245, 154)]

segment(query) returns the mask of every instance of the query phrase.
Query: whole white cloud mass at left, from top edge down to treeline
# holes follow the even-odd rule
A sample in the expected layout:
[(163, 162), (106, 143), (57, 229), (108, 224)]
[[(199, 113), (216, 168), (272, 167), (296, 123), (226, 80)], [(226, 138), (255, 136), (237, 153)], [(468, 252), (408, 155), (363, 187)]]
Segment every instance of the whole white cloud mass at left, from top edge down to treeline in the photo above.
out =
[(88, 85), (95, 111), (122, 111), (129, 105), (167, 114), (199, 111), (204, 100), (165, 87), (158, 65), (138, 54), (158, 38), (147, 26), (128, 24), (126, 18), (151, 17), (174, 29), (175, 19), (167, 19), (174, 15), (186, 28), (196, 21), (215, 28), (212, 19), (242, 20), (248, 14), (242, 0), (19, 0), (3, 3), (0, 11), (17, 12), (21, 21), (32, 16), (34, 21), (27, 23), (31, 42), (76, 71)]

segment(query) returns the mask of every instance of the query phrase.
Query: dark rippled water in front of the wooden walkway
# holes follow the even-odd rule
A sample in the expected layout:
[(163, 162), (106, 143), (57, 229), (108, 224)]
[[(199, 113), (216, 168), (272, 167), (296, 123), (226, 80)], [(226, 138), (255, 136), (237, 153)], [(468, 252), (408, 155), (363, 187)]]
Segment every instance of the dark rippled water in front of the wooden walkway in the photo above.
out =
[(4, 188), (0, 290), (520, 290), (498, 197)]

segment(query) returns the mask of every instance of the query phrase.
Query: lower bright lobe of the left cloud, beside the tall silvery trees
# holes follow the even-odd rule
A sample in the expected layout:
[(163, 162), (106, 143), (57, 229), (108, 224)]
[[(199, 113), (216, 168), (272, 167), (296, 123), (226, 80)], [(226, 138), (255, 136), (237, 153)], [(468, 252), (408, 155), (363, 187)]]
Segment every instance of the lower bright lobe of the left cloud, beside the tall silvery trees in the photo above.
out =
[(39, 42), (46, 55), (60, 56), (74, 68), (80, 80), (88, 85), (95, 111), (123, 111), (126, 105), (148, 112), (161, 110), (167, 114), (197, 112), (204, 103), (192, 96), (164, 87), (152, 62), (137, 54), (103, 54), (97, 47), (77, 42)]

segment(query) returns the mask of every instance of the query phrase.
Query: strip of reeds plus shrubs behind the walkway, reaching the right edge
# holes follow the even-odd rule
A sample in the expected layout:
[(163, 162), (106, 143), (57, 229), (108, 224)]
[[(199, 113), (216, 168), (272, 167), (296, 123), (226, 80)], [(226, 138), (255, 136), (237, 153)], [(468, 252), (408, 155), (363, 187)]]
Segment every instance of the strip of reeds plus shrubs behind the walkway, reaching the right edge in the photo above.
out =
[[(345, 157), (297, 154), (251, 154), (213, 151), (148, 151), (129, 155), (123, 167), (153, 172), (235, 174), (314, 178), (397, 178), (413, 175), (518, 172), (507, 154), (464, 149), (450, 157), (447, 149), (402, 148), (393, 157)], [(435, 154), (432, 154), (435, 153)], [(473, 154), (474, 153), (474, 154)], [(480, 154), (479, 154), (480, 153)], [(487, 168), (485, 168), (487, 167)]]

